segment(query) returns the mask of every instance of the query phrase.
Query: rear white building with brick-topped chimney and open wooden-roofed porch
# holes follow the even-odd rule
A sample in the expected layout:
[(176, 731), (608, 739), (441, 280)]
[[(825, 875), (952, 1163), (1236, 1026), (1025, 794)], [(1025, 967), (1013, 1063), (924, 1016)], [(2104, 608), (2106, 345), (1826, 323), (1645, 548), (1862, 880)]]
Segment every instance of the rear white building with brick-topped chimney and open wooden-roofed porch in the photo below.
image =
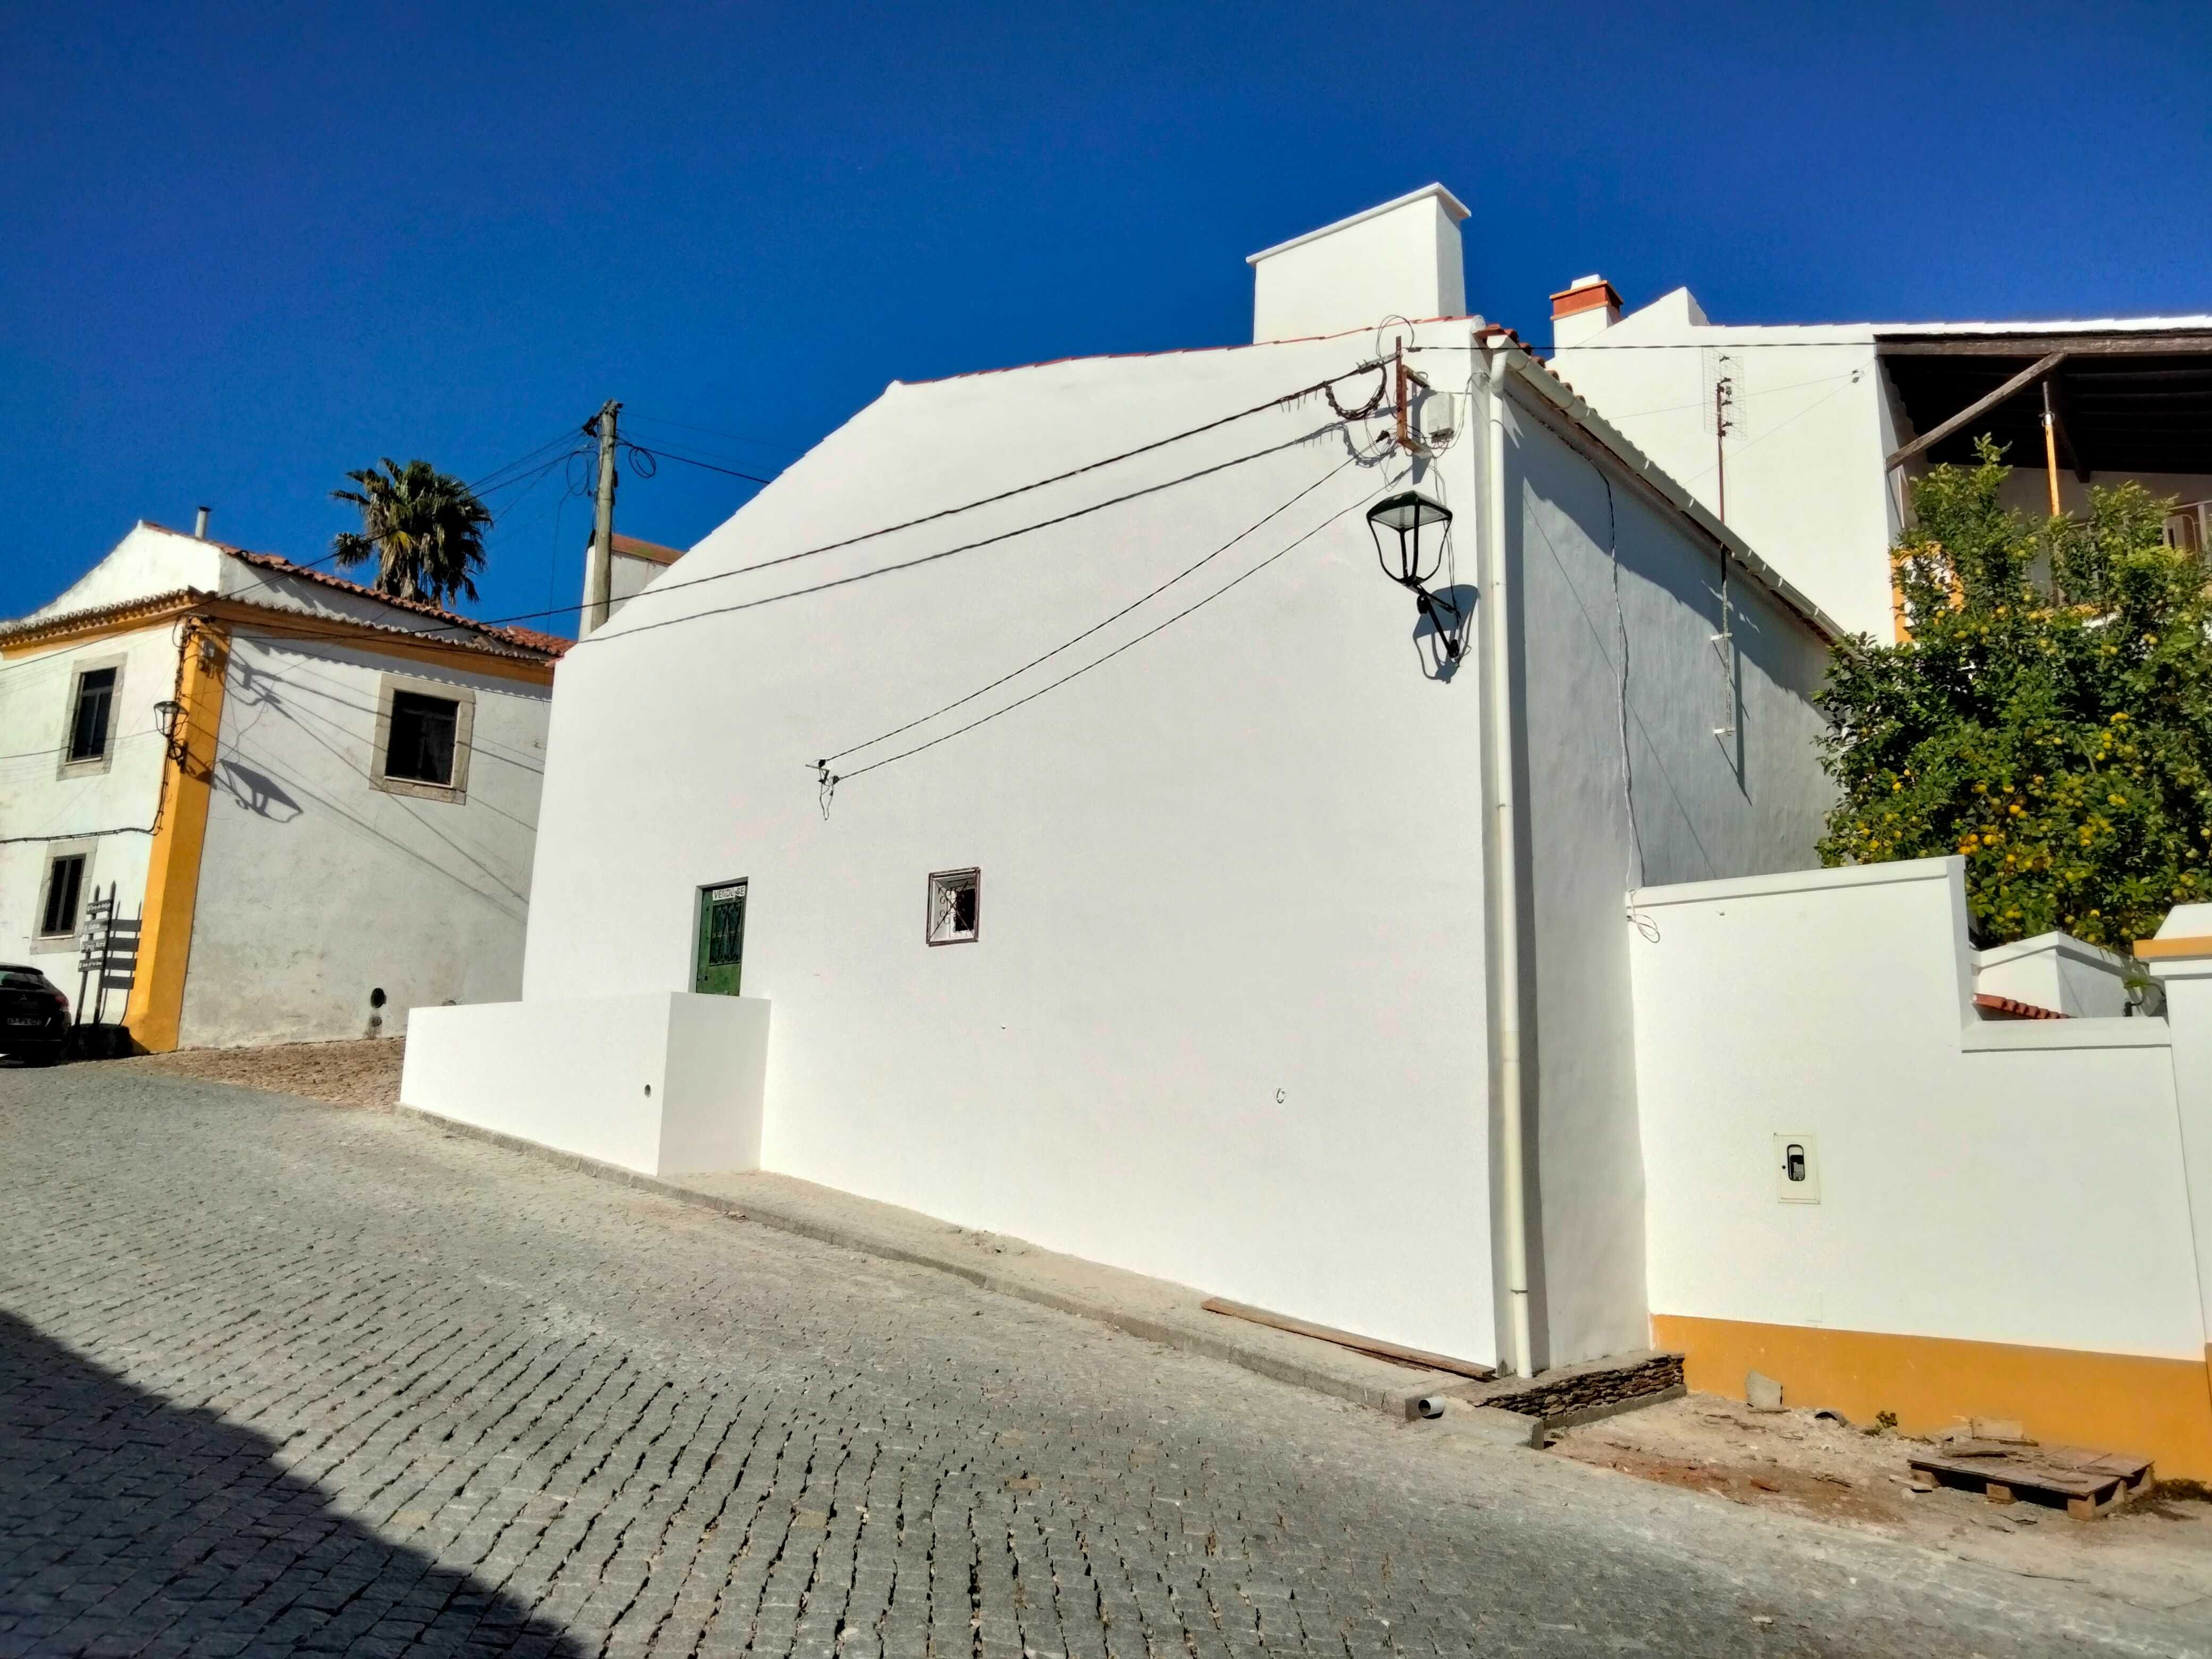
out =
[(1604, 276), (1551, 303), (1553, 369), (1851, 633), (1896, 637), (1907, 480), (1982, 434), (2013, 507), (2137, 480), (2212, 551), (2212, 316), (1741, 325), (1688, 288), (1624, 312)]

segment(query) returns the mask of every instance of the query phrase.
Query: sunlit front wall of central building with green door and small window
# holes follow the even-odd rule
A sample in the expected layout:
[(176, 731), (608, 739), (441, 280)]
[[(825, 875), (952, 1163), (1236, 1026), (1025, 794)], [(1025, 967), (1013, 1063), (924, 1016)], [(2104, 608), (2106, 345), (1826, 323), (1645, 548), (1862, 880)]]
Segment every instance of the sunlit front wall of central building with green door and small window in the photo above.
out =
[[(1394, 469), (1345, 465), (1314, 400), (699, 584), (1363, 356), (1347, 338), (894, 385), (692, 549), (686, 588), (639, 595), (562, 666), (526, 995), (688, 987), (695, 891), (743, 876), (743, 984), (774, 1004), (768, 1168), (1491, 1358), (1480, 675), (1422, 675), (1411, 599), (1376, 568), (1360, 513)], [(1261, 458), (827, 586), (1245, 456)], [(816, 757), (1099, 624), (1316, 482), (960, 712), (1097, 659), (1332, 522), (1279, 564), (1004, 719), (852, 776), (823, 816)], [(774, 595), (794, 597), (743, 608)], [(931, 949), (927, 876), (964, 865), (982, 867), (982, 938)]]

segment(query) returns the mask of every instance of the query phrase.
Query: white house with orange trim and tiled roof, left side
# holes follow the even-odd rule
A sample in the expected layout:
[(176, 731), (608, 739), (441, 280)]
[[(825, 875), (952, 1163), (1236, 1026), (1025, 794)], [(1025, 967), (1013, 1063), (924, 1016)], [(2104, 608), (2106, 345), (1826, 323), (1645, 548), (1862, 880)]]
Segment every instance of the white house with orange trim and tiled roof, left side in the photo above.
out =
[(137, 524), (0, 626), (0, 958), (148, 1051), (513, 995), (566, 644)]

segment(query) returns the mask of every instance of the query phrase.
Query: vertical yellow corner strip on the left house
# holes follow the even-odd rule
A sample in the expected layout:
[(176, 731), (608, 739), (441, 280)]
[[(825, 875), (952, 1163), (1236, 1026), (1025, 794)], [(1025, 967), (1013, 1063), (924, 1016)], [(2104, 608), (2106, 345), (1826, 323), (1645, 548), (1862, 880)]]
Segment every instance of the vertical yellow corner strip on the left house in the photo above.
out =
[(184, 975), (192, 960), (192, 911), (199, 905), (199, 854), (208, 843), (208, 799), (215, 739), (223, 730), (223, 681), (230, 639), (210, 626), (186, 628), (177, 672), (177, 739), (161, 772), (161, 823), (146, 867), (146, 920), (124, 1024), (146, 1053), (177, 1046), (184, 1022)]

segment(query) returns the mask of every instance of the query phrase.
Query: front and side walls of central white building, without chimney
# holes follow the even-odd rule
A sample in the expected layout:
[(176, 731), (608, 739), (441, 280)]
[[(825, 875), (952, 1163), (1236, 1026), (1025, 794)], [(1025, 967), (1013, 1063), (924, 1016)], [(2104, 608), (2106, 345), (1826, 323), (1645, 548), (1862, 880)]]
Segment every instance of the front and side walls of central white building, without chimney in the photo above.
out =
[[(1467, 330), (1422, 343), (1464, 347)], [(1484, 672), (1471, 641), (1438, 677), (1411, 599), (1376, 568), (1363, 509), (1405, 487), (1402, 467), (1345, 467), (1336, 420), (1307, 403), (739, 571), (1250, 407), (1349, 369), (1365, 345), (891, 387), (701, 542), (684, 588), (635, 599), (564, 664), (526, 998), (688, 989), (697, 889), (745, 878), (743, 991), (772, 1006), (765, 1168), (1493, 1358)], [(1422, 363), (1449, 392), (1467, 356)], [(1540, 1310), (1559, 1363), (1646, 1340), (1630, 860), (1604, 491), (1531, 416), (1540, 394), (1511, 398)], [(1473, 414), (1455, 409), (1462, 442), (1420, 478), (1460, 515), (1438, 586), (1469, 597), (1486, 522)], [(1827, 801), (1803, 701), (1816, 635), (1739, 573), (1739, 783), (1712, 739), (1714, 551), (1624, 467), (1615, 478), (1646, 872), (1812, 863)], [(1310, 487), (1137, 615), (931, 717)], [(907, 721), (832, 761), (845, 781), (825, 818), (812, 761)], [(929, 947), (927, 876), (969, 865), (982, 936)]]

